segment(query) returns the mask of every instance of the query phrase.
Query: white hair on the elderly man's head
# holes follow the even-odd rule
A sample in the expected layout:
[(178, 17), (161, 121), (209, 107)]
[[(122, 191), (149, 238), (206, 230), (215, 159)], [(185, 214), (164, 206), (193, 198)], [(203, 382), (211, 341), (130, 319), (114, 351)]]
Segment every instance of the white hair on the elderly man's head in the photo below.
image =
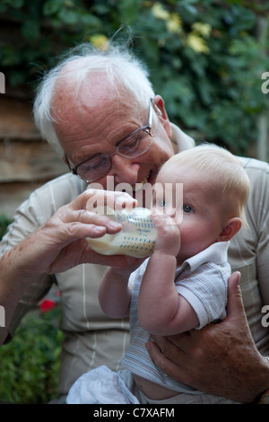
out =
[(102, 51), (89, 43), (72, 48), (56, 67), (44, 75), (33, 107), (35, 123), (41, 136), (58, 153), (62, 153), (62, 149), (53, 127), (55, 119), (51, 115), (51, 100), (57, 80), (65, 77), (62, 70), (69, 64), (72, 66), (68, 67), (68, 73), (73, 78), (76, 95), (79, 95), (87, 76), (94, 72), (104, 73), (117, 90), (126, 90), (134, 101), (144, 107), (148, 106), (154, 96), (146, 67), (128, 48), (110, 44), (108, 50)]

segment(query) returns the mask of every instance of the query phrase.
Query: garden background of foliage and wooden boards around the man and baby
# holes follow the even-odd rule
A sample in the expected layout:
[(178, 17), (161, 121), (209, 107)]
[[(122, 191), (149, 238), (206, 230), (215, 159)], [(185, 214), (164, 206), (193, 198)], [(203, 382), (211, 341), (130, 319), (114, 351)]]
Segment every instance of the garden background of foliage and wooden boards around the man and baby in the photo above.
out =
[[(263, 0), (2, 0), (0, 238), (30, 191), (66, 171), (40, 139), (31, 106), (40, 75), (81, 42), (101, 49), (111, 38), (128, 43), (171, 121), (197, 141), (268, 161), (268, 16)], [(0, 400), (54, 396), (62, 334), (52, 299), (0, 348)]]

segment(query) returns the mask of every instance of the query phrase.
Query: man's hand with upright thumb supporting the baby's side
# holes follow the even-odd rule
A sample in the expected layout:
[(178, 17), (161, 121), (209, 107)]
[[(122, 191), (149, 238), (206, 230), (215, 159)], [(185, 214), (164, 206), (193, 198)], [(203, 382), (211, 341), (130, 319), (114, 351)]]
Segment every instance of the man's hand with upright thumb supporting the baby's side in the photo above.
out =
[(178, 382), (205, 393), (252, 402), (269, 386), (269, 365), (259, 354), (247, 324), (239, 273), (229, 280), (227, 317), (203, 330), (152, 337), (154, 363)]

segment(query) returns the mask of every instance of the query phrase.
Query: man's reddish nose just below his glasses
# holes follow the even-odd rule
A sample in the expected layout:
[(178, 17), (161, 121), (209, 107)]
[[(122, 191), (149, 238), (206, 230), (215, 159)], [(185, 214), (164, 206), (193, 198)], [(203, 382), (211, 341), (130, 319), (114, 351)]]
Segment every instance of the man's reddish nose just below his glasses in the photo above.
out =
[(119, 154), (113, 154), (110, 160), (111, 171), (109, 175), (114, 176), (115, 182), (125, 182), (133, 186), (137, 181), (140, 164), (135, 163), (134, 159), (132, 160)]

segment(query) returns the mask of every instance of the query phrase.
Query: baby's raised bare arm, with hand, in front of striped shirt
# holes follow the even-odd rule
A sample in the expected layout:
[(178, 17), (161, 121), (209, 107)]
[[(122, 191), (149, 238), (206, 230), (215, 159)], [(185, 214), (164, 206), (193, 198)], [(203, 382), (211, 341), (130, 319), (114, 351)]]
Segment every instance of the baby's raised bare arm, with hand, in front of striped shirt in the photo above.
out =
[(177, 255), (180, 248), (178, 226), (167, 215), (152, 215), (158, 231), (138, 300), (139, 322), (143, 330), (168, 336), (198, 325), (197, 315), (175, 286)]

